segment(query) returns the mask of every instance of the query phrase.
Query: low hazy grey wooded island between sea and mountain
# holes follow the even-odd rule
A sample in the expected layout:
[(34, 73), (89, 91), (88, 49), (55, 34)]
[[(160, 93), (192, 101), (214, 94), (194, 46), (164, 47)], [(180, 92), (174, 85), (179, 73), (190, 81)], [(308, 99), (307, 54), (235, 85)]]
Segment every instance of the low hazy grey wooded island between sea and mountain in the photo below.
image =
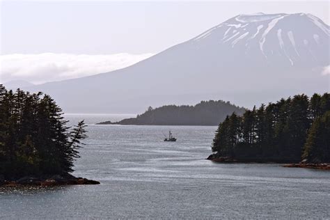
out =
[(126, 118), (116, 123), (106, 121), (97, 125), (219, 125), (228, 114), (235, 112), (242, 115), (244, 111), (244, 108), (230, 102), (210, 100), (195, 106), (165, 105), (156, 109), (149, 107), (136, 118)]

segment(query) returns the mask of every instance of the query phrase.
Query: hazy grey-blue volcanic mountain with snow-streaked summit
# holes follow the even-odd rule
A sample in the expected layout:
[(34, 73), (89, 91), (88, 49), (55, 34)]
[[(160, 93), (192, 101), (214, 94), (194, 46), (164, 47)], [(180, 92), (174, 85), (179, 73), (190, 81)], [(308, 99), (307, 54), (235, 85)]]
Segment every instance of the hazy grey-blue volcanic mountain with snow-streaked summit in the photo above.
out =
[(238, 15), (128, 68), (31, 90), (67, 112), (137, 113), (209, 99), (251, 107), (329, 91), (329, 40), (329, 26), (313, 15)]

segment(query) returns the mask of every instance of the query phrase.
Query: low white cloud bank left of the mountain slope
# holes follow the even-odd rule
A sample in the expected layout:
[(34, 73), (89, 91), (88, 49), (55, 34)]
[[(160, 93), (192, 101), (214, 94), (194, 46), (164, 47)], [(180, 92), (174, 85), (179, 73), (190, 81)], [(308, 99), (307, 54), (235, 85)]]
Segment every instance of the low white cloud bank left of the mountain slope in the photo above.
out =
[(0, 56), (0, 81), (33, 84), (60, 81), (125, 68), (153, 54), (7, 54)]

